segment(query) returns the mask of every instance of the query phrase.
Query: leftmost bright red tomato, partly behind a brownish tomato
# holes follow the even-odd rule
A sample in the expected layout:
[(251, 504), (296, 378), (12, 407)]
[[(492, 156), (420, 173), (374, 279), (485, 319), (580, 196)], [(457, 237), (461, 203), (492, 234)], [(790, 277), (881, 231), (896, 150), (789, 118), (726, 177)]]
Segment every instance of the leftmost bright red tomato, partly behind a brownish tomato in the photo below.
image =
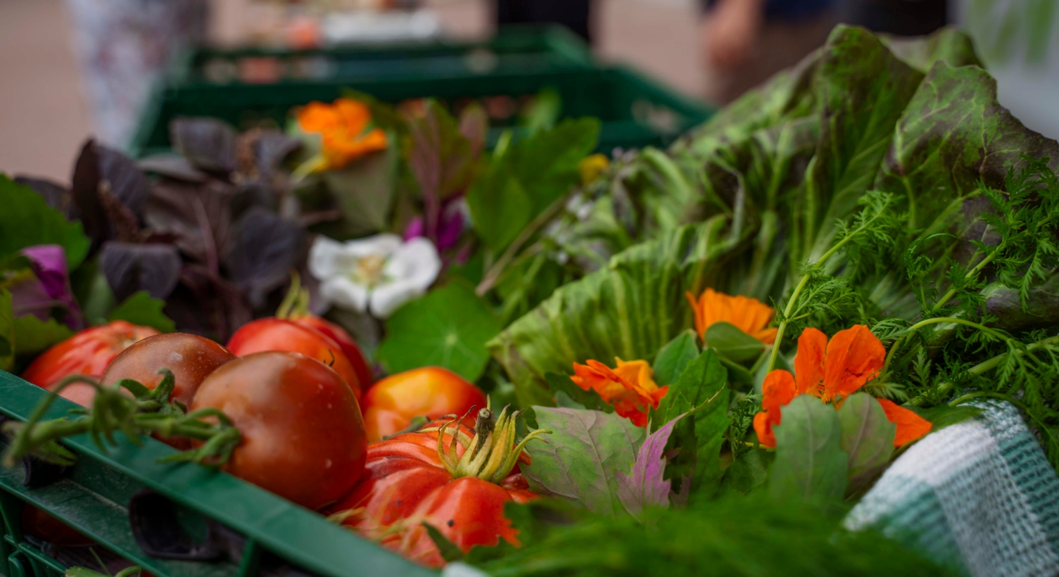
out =
[[(22, 372), (22, 378), (44, 389), (70, 375), (98, 378), (122, 350), (155, 335), (158, 331), (149, 326), (138, 326), (125, 321), (111, 321), (103, 326), (86, 328), (43, 351)], [(94, 391), (87, 384), (82, 386)], [(72, 393), (74, 389), (68, 387), (64, 393), (68, 391)]]

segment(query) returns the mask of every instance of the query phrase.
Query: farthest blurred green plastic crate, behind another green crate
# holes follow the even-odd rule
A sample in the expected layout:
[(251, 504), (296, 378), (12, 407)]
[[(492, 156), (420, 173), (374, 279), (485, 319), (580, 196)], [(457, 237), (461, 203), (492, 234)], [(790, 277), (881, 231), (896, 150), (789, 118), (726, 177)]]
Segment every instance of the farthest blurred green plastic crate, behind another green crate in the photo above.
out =
[(317, 50), (198, 49), (185, 53), (172, 69), (169, 88), (245, 84), (247, 65), (264, 64), (274, 73), (253, 84), (299, 80), (357, 82), (362, 78), (423, 79), (497, 72), (541, 73), (590, 70), (592, 51), (562, 26), (505, 26), (490, 39), (430, 39), (372, 44), (343, 44)]

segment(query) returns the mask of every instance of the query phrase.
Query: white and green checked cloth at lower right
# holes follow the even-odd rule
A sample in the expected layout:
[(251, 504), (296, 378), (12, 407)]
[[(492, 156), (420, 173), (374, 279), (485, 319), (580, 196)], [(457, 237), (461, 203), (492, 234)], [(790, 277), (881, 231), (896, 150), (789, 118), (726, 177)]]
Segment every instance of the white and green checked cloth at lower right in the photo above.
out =
[(911, 447), (845, 524), (974, 577), (1059, 575), (1059, 477), (1015, 407), (980, 407)]

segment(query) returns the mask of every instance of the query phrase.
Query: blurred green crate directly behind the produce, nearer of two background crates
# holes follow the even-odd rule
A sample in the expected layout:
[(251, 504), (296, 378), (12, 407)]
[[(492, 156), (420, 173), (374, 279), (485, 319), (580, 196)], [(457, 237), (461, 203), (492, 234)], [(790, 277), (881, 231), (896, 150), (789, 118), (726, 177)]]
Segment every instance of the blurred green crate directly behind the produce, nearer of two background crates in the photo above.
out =
[[(436, 97), (451, 109), (471, 100), (530, 98), (541, 90), (556, 91), (563, 118), (596, 116), (603, 121), (598, 150), (667, 144), (704, 122), (712, 109), (677, 94), (658, 82), (626, 68), (561, 70), (542, 73), (497, 72), (486, 75), (426, 78), (372, 78), (356, 83), (285, 82), (270, 86), (187, 86), (166, 90), (148, 107), (130, 152), (146, 156), (169, 149), (169, 121), (178, 116), (214, 116), (241, 129), (282, 127), (292, 107), (311, 101), (330, 102), (356, 90), (389, 103)], [(487, 107), (488, 108), (488, 107)], [(508, 122), (515, 119), (509, 118)], [(493, 126), (504, 122), (492, 119)], [(501, 128), (493, 128), (495, 140)]]

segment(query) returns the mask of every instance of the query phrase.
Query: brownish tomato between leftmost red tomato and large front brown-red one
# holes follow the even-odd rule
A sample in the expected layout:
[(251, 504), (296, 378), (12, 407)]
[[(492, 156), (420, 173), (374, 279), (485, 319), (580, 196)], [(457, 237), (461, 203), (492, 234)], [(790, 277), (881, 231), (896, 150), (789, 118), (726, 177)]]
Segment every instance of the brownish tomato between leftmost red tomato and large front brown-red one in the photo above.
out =
[(175, 379), (170, 398), (191, 404), (202, 380), (234, 358), (227, 348), (205, 337), (186, 332), (156, 335), (118, 355), (100, 382), (109, 386), (122, 379), (132, 379), (155, 389), (164, 378), (158, 371), (165, 367)]

